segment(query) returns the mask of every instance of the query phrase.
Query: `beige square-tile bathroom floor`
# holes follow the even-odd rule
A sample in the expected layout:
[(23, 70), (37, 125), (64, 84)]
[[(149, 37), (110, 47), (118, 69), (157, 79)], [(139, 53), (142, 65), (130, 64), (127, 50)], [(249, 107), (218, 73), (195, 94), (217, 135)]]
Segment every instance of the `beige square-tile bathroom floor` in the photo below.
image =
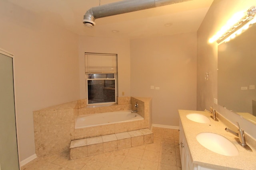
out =
[(69, 153), (38, 157), (21, 170), (181, 170), (179, 132), (153, 127), (154, 143), (69, 160)]

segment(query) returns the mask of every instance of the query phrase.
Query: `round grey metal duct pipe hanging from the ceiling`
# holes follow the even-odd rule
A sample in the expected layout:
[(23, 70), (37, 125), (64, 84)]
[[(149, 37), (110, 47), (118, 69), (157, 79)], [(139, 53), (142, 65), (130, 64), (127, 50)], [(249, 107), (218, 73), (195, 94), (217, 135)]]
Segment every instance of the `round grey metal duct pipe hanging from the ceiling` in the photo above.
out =
[(94, 27), (97, 18), (114, 16), (128, 12), (146, 10), (159, 6), (166, 6), (190, 0), (122, 0), (110, 4), (92, 7), (84, 14), (83, 23), (87, 27)]

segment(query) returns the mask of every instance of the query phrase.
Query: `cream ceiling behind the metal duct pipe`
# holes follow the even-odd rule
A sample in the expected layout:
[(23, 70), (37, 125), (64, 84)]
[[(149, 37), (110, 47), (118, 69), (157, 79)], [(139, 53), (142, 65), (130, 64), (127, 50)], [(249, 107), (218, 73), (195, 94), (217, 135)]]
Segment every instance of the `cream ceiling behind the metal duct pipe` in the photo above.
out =
[[(8, 0), (78, 34), (138, 39), (197, 31), (213, 0), (178, 4), (98, 18), (93, 28), (82, 23), (86, 11), (120, 0)], [(164, 26), (171, 23), (171, 26)], [(118, 30), (118, 33), (112, 33)]]

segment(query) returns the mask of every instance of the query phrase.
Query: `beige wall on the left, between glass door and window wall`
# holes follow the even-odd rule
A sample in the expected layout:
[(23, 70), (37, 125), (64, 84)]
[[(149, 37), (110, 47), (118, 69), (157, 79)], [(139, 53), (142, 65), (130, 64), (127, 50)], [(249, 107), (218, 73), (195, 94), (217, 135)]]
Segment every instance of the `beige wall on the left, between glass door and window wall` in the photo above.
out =
[(35, 153), (32, 111), (79, 98), (78, 37), (0, 1), (0, 48), (15, 55), (20, 160)]

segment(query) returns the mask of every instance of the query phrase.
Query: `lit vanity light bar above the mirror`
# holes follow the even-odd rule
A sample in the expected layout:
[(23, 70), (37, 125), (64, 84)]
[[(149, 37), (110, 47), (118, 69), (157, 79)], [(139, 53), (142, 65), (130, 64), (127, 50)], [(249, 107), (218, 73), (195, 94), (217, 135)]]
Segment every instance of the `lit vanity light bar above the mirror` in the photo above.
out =
[(243, 29), (247, 29), (250, 24), (256, 22), (253, 20), (255, 14), (256, 6), (252, 6), (246, 13), (237, 13), (216, 33), (216, 35), (209, 39), (209, 42), (213, 43), (216, 41), (217, 43), (221, 43), (222, 41), (229, 41), (231, 38), (234, 38), (236, 35), (240, 34)]

